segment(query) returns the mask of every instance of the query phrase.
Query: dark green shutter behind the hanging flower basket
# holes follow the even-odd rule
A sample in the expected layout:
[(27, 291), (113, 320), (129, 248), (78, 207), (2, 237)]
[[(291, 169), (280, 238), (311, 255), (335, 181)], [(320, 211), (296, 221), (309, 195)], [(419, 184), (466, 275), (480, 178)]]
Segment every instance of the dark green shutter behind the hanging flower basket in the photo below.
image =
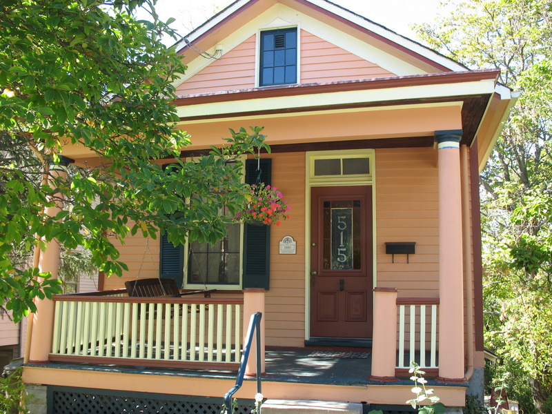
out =
[[(259, 164), (257, 164), (257, 162)], [(259, 165), (259, 170), (257, 169)], [(246, 161), (246, 183), (259, 182), (270, 185), (271, 159), (248, 159)], [(264, 288), (268, 290), (270, 274), (270, 226), (244, 225), (244, 279), (243, 288)]]

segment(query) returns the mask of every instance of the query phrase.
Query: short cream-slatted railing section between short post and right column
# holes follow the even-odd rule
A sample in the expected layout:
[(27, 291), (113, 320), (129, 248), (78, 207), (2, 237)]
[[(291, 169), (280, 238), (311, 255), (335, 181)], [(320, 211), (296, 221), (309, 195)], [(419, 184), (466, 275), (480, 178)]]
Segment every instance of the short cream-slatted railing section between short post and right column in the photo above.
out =
[(439, 299), (399, 298), (397, 368), (437, 368), (437, 305)]

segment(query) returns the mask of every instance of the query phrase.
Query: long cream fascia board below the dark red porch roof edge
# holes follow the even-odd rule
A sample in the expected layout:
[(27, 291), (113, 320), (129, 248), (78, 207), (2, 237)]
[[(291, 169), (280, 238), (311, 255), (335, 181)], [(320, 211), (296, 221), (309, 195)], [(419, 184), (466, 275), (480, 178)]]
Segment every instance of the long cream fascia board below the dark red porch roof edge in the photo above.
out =
[(429, 99), (438, 97), (459, 97), (469, 95), (492, 94), (495, 90), (494, 79), (488, 81), (471, 81), (424, 86), (404, 86), (400, 88), (382, 88), (375, 90), (353, 90), (344, 92), (327, 92), (293, 97), (264, 97), (213, 103), (184, 105), (177, 108), (181, 118), (213, 117), (232, 115), (244, 112), (262, 112), (274, 110), (301, 110), (304, 108), (342, 106), (351, 103), (386, 102), (408, 99)]

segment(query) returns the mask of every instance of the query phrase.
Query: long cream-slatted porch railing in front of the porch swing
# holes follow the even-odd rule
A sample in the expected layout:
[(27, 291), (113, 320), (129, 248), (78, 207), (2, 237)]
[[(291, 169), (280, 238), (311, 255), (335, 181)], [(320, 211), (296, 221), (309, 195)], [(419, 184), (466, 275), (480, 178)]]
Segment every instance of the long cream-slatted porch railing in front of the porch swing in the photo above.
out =
[(243, 299), (55, 295), (50, 360), (135, 366), (239, 364)]

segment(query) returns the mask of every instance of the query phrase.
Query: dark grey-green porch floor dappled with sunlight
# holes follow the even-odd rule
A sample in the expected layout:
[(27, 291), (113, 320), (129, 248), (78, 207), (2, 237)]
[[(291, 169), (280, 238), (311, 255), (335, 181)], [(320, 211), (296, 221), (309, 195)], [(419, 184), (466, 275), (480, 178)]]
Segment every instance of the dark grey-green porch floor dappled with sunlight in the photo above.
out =
[[(371, 351), (367, 349), (366, 351)], [(253, 357), (254, 358), (254, 357)], [(369, 381), (371, 353), (342, 351), (266, 351), (264, 382), (295, 382), (298, 384), (367, 385), (381, 384)], [(27, 364), (28, 366), (42, 366)], [(139, 375), (171, 375), (177, 377), (204, 377), (235, 379), (235, 371), (213, 369), (149, 368), (115, 364), (68, 364), (55, 362), (48, 368), (79, 371), (103, 371)], [(251, 380), (255, 380), (254, 378)], [(410, 380), (393, 384), (411, 384)]]

